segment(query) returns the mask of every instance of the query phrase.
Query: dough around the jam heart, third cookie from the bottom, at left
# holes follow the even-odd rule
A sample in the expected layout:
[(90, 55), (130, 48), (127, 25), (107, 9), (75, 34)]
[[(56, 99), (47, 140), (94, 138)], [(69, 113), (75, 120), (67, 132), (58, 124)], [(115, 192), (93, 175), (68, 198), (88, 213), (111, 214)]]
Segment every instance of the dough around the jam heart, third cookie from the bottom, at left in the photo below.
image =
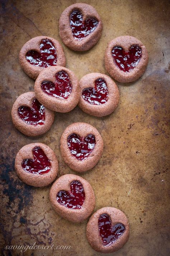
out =
[[(22, 161), (24, 159), (34, 159), (33, 149), (40, 147), (51, 163), (51, 169), (46, 174), (36, 174), (27, 172), (22, 168)], [(25, 145), (20, 149), (15, 158), (15, 170), (20, 180), (33, 187), (44, 187), (51, 184), (58, 174), (58, 161), (55, 153), (47, 145), (43, 143), (31, 143)]]

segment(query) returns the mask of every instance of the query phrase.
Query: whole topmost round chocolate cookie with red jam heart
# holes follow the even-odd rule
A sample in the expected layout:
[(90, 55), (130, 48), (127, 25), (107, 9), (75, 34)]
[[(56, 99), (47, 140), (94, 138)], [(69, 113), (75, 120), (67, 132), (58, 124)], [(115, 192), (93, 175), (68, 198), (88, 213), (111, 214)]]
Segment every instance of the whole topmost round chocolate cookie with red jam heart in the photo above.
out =
[(103, 24), (95, 8), (77, 3), (61, 14), (59, 32), (63, 43), (74, 51), (86, 51), (100, 39)]

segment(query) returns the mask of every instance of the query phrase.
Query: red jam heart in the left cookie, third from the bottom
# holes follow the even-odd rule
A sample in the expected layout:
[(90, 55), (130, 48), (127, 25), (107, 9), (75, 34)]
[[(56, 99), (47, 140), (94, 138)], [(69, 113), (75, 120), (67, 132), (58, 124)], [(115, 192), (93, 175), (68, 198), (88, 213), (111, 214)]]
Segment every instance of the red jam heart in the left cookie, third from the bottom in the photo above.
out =
[(40, 147), (33, 149), (34, 159), (24, 159), (22, 161), (22, 167), (24, 171), (36, 173), (36, 174), (46, 174), (51, 169), (51, 163)]

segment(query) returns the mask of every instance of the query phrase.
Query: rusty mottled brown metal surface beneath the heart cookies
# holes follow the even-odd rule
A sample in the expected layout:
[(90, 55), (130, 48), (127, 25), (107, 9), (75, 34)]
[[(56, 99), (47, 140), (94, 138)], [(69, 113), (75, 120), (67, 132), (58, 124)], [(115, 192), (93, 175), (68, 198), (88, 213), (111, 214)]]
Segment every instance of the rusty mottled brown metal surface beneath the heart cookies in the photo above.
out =
[[(132, 35), (145, 44), (149, 63), (145, 74), (130, 84), (118, 84), (120, 103), (110, 116), (96, 118), (79, 107), (56, 113), (46, 134), (28, 138), (17, 131), (10, 111), (15, 99), (33, 91), (34, 81), (21, 70), (18, 54), (35, 36), (60, 40), (58, 20), (62, 11), (78, 1), (1, 1), (1, 255), (102, 255), (85, 237), (87, 220), (72, 224), (55, 214), (49, 189), (33, 188), (16, 176), (14, 159), (25, 144), (42, 142), (59, 161), (59, 176), (74, 173), (63, 162), (60, 136), (72, 122), (95, 126), (104, 140), (98, 165), (80, 174), (95, 191), (95, 211), (113, 206), (129, 218), (128, 243), (116, 256), (165, 256), (170, 254), (169, 230), (169, 1), (85, 0), (102, 18), (103, 35), (93, 49), (76, 53), (63, 46), (67, 67), (80, 79), (90, 72), (107, 74), (104, 51), (114, 37)], [(71, 245), (70, 250), (5, 250), (6, 245)]]

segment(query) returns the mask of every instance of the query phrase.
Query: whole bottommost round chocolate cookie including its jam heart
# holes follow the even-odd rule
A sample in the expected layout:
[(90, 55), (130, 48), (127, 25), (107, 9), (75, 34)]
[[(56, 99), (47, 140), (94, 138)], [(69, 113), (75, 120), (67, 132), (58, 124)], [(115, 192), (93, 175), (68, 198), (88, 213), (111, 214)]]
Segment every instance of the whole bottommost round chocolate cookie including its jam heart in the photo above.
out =
[(86, 227), (86, 237), (95, 251), (115, 252), (128, 241), (128, 219), (117, 208), (101, 208), (90, 217)]

